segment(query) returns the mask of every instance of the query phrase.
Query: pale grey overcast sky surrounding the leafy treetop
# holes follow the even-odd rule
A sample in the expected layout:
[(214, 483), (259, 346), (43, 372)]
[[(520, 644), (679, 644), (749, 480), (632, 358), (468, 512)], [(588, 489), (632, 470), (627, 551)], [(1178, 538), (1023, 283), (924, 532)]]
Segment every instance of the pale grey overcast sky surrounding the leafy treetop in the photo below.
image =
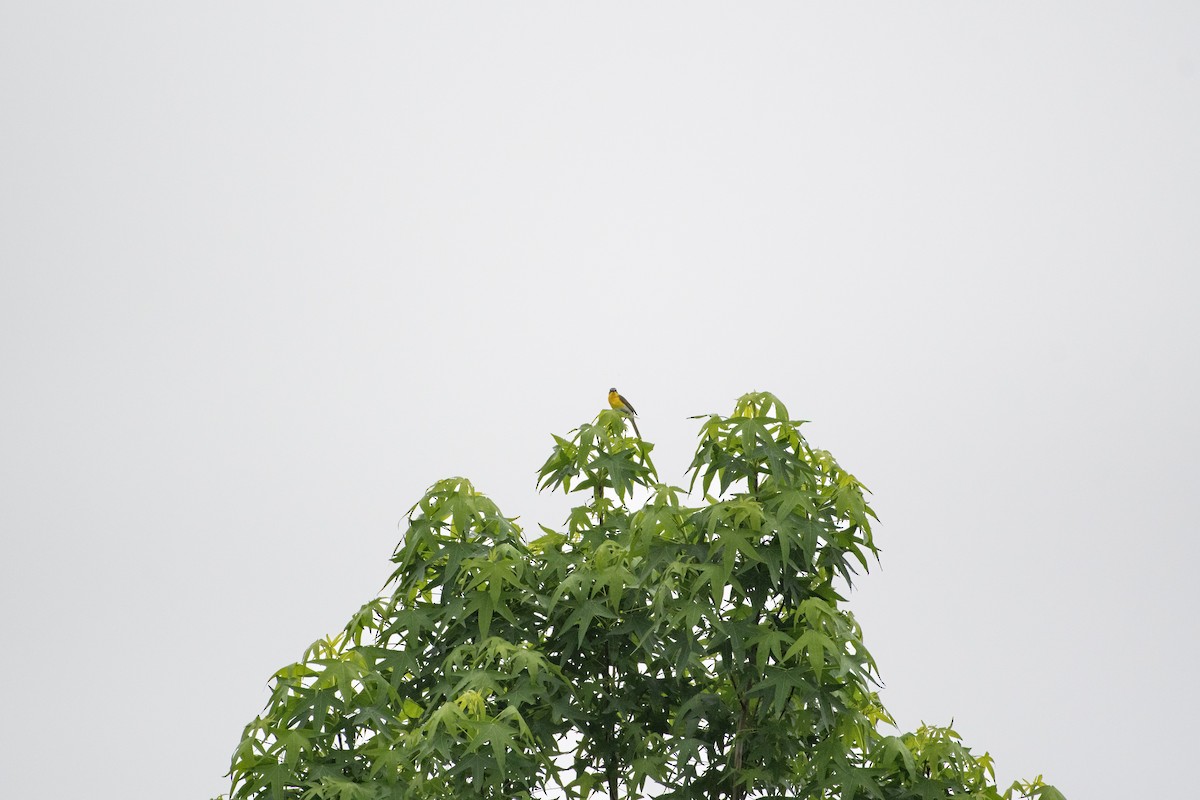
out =
[(1195, 760), (1200, 5), (0, 7), (5, 792), (209, 798), (426, 486), (610, 385), (874, 491), (905, 728)]

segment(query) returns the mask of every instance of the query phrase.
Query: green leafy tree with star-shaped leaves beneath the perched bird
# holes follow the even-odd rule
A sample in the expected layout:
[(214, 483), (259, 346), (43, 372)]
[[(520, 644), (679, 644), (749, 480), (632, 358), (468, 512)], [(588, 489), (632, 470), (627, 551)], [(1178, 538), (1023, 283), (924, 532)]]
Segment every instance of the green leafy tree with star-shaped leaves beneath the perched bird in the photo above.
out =
[(601, 411), (554, 437), (539, 488), (583, 501), (529, 542), (466, 479), (434, 483), (383, 593), (275, 674), (232, 800), (1061, 800), (1002, 792), (949, 727), (887, 733), (842, 595), (875, 515), (800, 426), (743, 396), (703, 420), (685, 492)]

